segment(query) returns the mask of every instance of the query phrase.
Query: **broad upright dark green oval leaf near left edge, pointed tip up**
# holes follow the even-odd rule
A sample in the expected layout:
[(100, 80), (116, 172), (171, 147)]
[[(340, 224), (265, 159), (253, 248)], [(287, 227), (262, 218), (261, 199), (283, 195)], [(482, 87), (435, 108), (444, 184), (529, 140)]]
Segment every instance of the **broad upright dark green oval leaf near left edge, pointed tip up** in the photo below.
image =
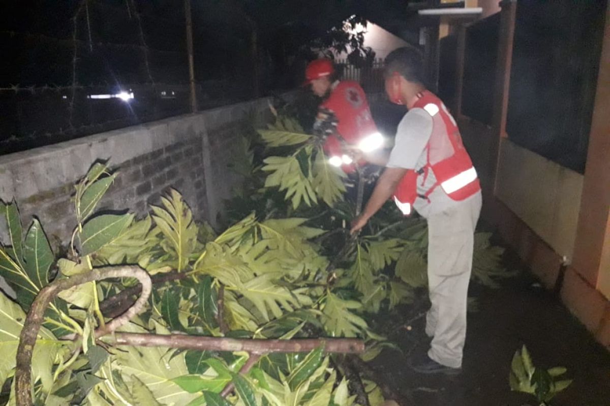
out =
[(49, 268), (55, 260), (40, 222), (32, 220), (23, 245), (23, 259), (29, 278), (42, 289), (49, 284)]

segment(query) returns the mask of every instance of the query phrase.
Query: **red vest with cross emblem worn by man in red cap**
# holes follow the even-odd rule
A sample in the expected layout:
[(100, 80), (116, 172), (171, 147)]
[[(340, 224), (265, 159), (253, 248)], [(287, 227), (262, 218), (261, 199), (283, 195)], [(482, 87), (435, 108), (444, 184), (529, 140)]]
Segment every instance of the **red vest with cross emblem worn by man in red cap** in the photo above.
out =
[[(357, 82), (349, 80), (339, 82), (320, 108), (331, 110), (338, 121), (338, 134), (328, 136), (324, 144), (324, 150), (329, 157), (342, 157), (345, 154), (342, 147), (343, 142), (357, 145), (361, 139), (377, 132), (370, 108), (368, 108), (367, 97)], [(353, 164), (344, 164), (342, 169), (345, 172), (353, 172), (355, 167)]]

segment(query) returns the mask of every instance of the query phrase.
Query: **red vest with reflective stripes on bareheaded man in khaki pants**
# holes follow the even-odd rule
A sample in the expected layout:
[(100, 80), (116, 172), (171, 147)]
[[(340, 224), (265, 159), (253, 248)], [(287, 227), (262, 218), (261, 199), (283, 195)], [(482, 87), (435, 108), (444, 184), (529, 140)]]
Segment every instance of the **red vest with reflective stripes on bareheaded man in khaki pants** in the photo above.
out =
[[(442, 187), (453, 200), (465, 200), (481, 190), (475, 167), (462, 144), (458, 125), (443, 102), (429, 91), (420, 93), (412, 108), (423, 108), (432, 117), (432, 134), (425, 147), (426, 164), (417, 170), (409, 170), (394, 192), (394, 201), (403, 214), (411, 214), (416, 198), (429, 199), (429, 195)], [(417, 180), (422, 183), (428, 171), (434, 173), (436, 183), (423, 195), (417, 194)]]

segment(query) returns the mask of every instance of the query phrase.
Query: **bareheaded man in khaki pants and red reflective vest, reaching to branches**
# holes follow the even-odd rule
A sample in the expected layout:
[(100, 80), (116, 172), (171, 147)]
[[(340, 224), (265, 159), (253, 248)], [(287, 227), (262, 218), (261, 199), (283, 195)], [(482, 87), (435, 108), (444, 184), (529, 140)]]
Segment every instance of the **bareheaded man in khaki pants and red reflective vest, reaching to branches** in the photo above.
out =
[(432, 304), (426, 334), (432, 343), (427, 356), (411, 360), (411, 366), (419, 373), (459, 373), (481, 187), (455, 120), (423, 85), (419, 52), (411, 47), (393, 51), (384, 75), (390, 101), (408, 111), (398, 125), (386, 170), (351, 231), (359, 231), (389, 198), (404, 215), (415, 209), (426, 218)]

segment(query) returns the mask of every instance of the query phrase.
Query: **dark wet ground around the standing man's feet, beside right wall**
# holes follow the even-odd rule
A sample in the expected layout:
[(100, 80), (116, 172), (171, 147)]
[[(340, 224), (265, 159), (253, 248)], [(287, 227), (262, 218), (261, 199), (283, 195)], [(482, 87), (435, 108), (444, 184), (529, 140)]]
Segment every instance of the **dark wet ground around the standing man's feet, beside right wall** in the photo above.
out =
[(567, 377), (574, 379), (551, 405), (610, 406), (610, 352), (527, 272), (497, 290), (471, 286), (470, 295), (477, 298), (478, 312), (468, 314), (460, 376), (422, 376), (407, 365), (406, 352), (423, 352), (428, 345), (423, 318), (409, 323), (410, 331), (405, 325), (424, 304), (379, 322), (377, 330), (386, 331), (405, 354), (386, 350), (371, 365), (400, 394), (403, 406), (537, 406), (533, 397), (511, 392), (508, 384), (512, 356), (523, 344), (535, 365), (565, 366)]

